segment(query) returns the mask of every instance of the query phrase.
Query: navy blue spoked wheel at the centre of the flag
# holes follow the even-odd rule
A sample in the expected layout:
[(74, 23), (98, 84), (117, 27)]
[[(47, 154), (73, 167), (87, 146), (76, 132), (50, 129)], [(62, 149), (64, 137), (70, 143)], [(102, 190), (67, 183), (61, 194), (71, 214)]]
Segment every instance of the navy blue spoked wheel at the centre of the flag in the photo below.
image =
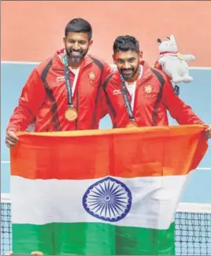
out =
[(131, 191), (117, 179), (106, 177), (88, 187), (83, 208), (100, 220), (122, 220), (131, 209)]

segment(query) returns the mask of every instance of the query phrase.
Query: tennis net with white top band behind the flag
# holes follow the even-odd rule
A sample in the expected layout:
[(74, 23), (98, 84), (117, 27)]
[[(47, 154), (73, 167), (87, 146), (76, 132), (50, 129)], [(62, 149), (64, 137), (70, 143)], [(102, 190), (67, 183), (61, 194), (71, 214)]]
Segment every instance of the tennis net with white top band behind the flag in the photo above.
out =
[[(12, 250), (9, 194), (1, 194), (1, 255)], [(211, 204), (180, 203), (176, 215), (176, 255), (211, 255)]]

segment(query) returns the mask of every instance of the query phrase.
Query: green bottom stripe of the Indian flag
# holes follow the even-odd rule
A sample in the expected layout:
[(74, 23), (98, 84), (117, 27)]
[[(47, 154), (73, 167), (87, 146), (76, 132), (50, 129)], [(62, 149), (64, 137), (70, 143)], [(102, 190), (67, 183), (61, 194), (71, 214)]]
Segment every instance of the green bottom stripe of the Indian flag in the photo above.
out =
[(174, 255), (174, 224), (168, 230), (104, 223), (13, 224), (13, 253), (33, 250), (45, 255)]

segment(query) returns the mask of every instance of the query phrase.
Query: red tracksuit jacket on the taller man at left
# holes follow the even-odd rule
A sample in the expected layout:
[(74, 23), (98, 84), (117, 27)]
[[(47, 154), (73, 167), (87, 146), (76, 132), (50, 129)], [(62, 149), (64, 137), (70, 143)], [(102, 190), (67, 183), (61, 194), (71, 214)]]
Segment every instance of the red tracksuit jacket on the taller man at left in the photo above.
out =
[[(65, 110), (68, 96), (64, 69), (57, 51), (53, 58), (39, 64), (32, 71), (21, 92), (19, 104), (13, 111), (7, 130), (24, 131), (35, 121), (35, 131), (98, 129), (99, 120), (106, 115), (106, 100), (102, 84), (110, 66), (91, 55), (86, 55), (80, 66), (73, 104), (78, 119), (68, 122)], [(75, 77), (71, 71), (70, 81)]]

